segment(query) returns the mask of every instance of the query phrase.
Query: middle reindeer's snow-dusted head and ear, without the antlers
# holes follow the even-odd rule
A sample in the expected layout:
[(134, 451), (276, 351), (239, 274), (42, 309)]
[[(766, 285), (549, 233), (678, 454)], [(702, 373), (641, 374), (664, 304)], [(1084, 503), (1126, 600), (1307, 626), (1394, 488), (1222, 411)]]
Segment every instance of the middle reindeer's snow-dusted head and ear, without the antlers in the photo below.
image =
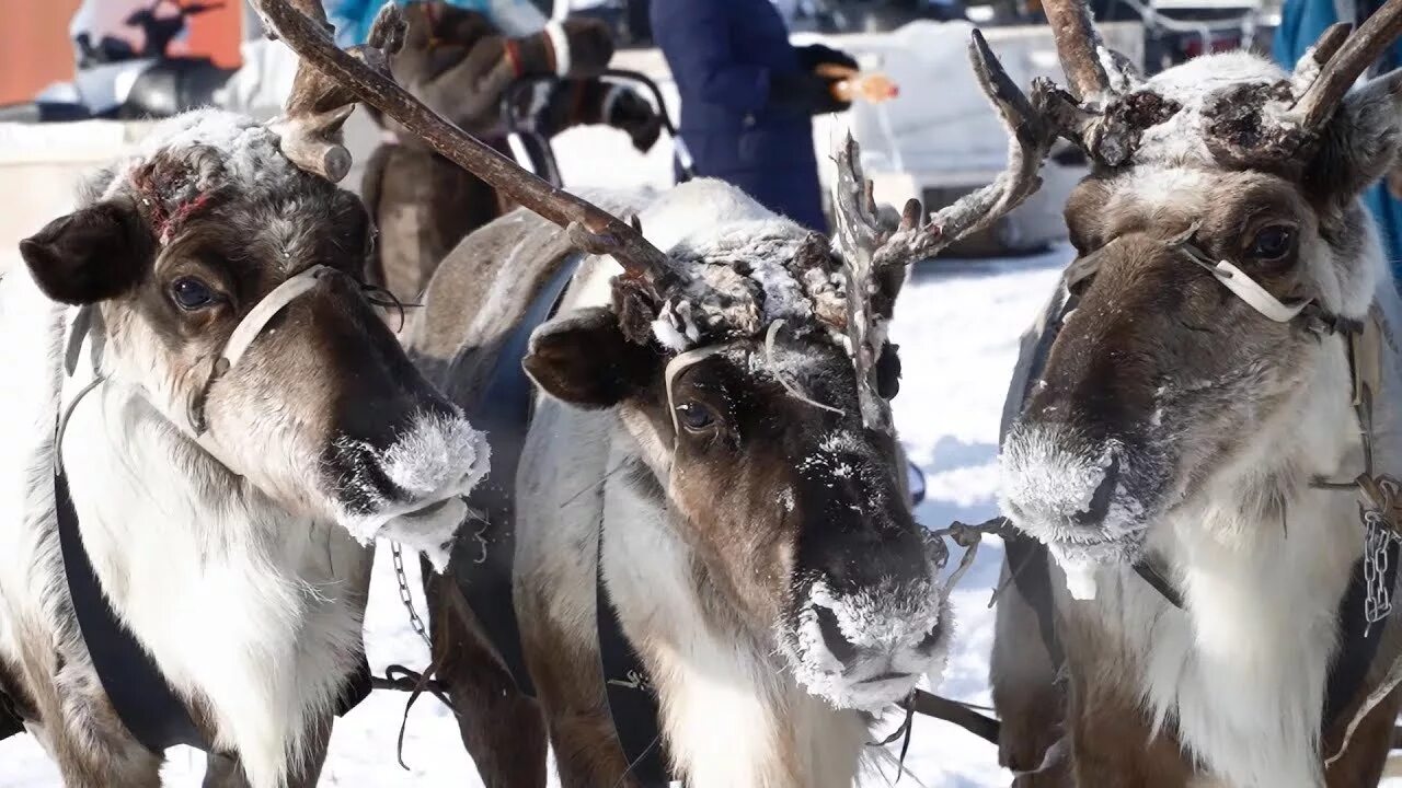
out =
[[(681, 271), (712, 283), (705, 308), (757, 306), (753, 331), (676, 331), (652, 301), (639, 320), (624, 286), (613, 308), (537, 330), (524, 366), (548, 394), (618, 414), (644, 460), (628, 484), (666, 506), (694, 550), (715, 625), (834, 705), (899, 700), (944, 653), (944, 552), (911, 516), (894, 436), (864, 426), (845, 335), (813, 314), (843, 311), (838, 261), (827, 238), (733, 186), (693, 181), (663, 199), (719, 215), (691, 217), (700, 233), (669, 234), (646, 212), (644, 224)], [(876, 299), (886, 318), (901, 279), (885, 279)], [(889, 400), (896, 348), (880, 359)]]

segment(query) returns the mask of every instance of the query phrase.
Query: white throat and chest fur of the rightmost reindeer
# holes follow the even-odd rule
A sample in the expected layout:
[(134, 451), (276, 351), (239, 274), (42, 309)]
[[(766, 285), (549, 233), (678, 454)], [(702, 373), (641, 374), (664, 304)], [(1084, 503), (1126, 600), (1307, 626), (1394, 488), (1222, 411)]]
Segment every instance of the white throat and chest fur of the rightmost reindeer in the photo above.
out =
[(1279, 416), (1274, 439), (1218, 477), (1216, 492), (1151, 530), (1186, 611), (1127, 568), (1096, 572), (1099, 596), (1077, 604), (1078, 616), (1119, 641), (1155, 719), (1175, 719), (1207, 774), (1238, 788), (1322, 784), (1321, 701), (1338, 602), (1361, 548), (1361, 533), (1338, 524), (1357, 517), (1356, 502), (1305, 489), (1288, 503), (1287, 536), (1281, 523), (1259, 522), (1251, 491), (1294, 463), (1325, 475), (1340, 470), (1356, 422), (1347, 372), (1330, 367)]

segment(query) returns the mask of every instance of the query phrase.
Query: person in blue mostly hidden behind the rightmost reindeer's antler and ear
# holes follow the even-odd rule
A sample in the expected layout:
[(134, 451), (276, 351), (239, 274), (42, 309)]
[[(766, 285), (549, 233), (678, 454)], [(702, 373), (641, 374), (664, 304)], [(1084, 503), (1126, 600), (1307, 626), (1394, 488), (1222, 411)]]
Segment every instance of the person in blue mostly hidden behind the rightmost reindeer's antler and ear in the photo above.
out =
[[(1280, 10), (1280, 27), (1276, 28), (1276, 62), (1287, 70), (1294, 69), (1305, 49), (1314, 45), (1329, 25), (1345, 21), (1357, 29), (1381, 6), (1382, 0), (1357, 0), (1353, 18), (1340, 18), (1335, 0), (1286, 0)], [(1382, 74), (1398, 66), (1402, 66), (1402, 43), (1394, 43), (1385, 50), (1367, 76)], [(1363, 192), (1363, 202), (1378, 223), (1382, 254), (1388, 255), (1394, 275), (1402, 282), (1402, 202), (1382, 182)]]

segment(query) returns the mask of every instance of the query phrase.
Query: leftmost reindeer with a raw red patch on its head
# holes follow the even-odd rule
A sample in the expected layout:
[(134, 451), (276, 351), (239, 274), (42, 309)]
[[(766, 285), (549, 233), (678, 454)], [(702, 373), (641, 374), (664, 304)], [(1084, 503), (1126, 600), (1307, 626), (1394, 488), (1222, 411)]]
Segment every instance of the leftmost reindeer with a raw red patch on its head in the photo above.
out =
[[(358, 56), (383, 67), (393, 31)], [(158, 785), (167, 743), (95, 669), (77, 555), (215, 780), (313, 785), (363, 659), (365, 544), (442, 564), (486, 470), (360, 285), (373, 226), (334, 184), (353, 101), (303, 66), (272, 125), (160, 125), (0, 280), (0, 695), (72, 788)]]

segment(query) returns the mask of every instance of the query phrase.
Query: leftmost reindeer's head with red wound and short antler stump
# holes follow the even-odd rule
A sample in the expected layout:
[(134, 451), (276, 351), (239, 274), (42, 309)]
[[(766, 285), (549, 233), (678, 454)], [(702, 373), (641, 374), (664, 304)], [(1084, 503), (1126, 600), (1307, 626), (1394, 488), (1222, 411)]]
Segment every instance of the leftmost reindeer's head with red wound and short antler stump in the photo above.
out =
[(174, 118), (20, 250), (45, 294), (95, 320), (105, 386), (157, 416), (196, 473), (442, 562), (485, 446), (359, 282), (374, 230), (325, 178), (343, 175), (335, 129), (352, 108), (303, 66), (269, 126)]

